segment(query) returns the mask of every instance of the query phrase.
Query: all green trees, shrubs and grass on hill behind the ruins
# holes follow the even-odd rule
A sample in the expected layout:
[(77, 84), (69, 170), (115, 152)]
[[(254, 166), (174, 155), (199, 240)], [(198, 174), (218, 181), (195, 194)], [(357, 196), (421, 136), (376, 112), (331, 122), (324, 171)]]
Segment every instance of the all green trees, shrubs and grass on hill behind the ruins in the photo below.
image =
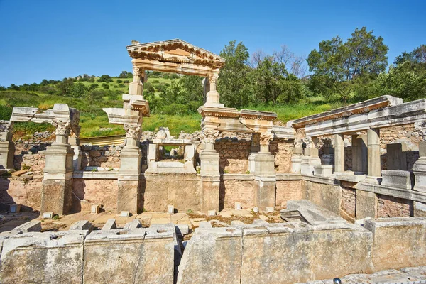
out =
[[(373, 31), (356, 29), (346, 41), (336, 36), (323, 40), (307, 58), (281, 50), (250, 57), (243, 43), (231, 41), (220, 55), (226, 65), (219, 73), (217, 89), (226, 107), (275, 111), (278, 121), (289, 121), (360, 102), (383, 94), (405, 101), (426, 97), (426, 45), (399, 55), (387, 69), (388, 47)], [(307, 75), (307, 69), (310, 74)], [(143, 130), (168, 126), (178, 136), (181, 130), (200, 130), (197, 108), (203, 103), (202, 78), (146, 72), (143, 96), (151, 116)], [(118, 77), (79, 75), (40, 84), (0, 86), (0, 119), (9, 119), (14, 106), (50, 109), (66, 103), (80, 110), (82, 137), (123, 134), (122, 126), (108, 123), (104, 107), (122, 107), (131, 72)], [(52, 131), (43, 124), (16, 124), (16, 138), (35, 131)]]

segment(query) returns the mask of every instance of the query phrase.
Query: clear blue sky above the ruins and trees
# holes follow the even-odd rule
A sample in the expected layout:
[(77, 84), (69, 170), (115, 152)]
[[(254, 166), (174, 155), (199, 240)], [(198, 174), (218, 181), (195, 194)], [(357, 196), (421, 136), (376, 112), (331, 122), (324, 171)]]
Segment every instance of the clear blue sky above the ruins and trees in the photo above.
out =
[(426, 44), (426, 1), (0, 0), (0, 85), (131, 70), (126, 45), (181, 38), (219, 53), (288, 45), (307, 56), (321, 40), (366, 26), (389, 62)]

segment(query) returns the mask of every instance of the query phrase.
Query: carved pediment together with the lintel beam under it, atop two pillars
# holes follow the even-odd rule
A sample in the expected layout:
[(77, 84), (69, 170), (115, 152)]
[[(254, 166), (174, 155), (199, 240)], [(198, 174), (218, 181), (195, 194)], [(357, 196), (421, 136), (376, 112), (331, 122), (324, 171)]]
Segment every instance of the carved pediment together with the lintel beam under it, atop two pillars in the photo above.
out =
[(133, 58), (133, 66), (141, 70), (207, 77), (217, 76), (225, 63), (219, 55), (179, 39), (153, 43), (132, 41), (127, 51)]

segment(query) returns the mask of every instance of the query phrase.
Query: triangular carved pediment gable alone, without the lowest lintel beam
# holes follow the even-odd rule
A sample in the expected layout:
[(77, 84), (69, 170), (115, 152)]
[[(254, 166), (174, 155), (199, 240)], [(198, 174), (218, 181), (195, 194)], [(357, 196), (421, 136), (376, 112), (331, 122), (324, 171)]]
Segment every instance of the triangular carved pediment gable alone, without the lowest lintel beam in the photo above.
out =
[(132, 45), (127, 46), (127, 51), (132, 58), (163, 62), (186, 62), (217, 67), (222, 67), (225, 62), (219, 55), (180, 39), (153, 43), (138, 43), (133, 40)]

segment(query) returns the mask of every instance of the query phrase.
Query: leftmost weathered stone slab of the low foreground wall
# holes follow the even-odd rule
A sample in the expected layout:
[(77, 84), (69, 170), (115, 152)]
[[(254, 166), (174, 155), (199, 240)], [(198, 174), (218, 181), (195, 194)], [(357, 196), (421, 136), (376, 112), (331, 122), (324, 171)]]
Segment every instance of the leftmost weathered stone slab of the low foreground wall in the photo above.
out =
[(35, 232), (4, 239), (0, 283), (81, 283), (87, 233)]

